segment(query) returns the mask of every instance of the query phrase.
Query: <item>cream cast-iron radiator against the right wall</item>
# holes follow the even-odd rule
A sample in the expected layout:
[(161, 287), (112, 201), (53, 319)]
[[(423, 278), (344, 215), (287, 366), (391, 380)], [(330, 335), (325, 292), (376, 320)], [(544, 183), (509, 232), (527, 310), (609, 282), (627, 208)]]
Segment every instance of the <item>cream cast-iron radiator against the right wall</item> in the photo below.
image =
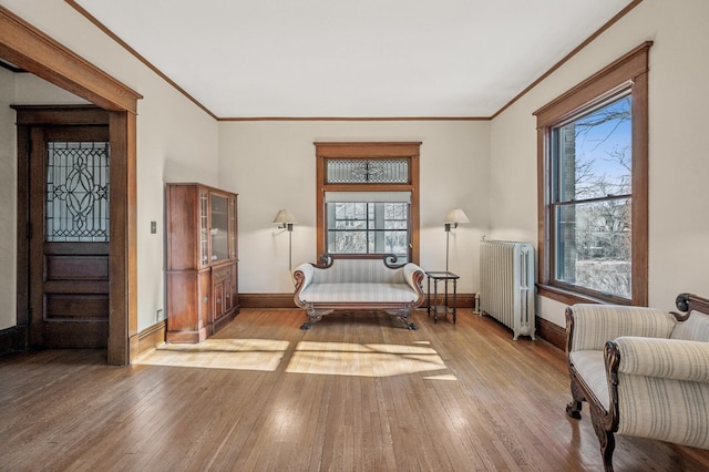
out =
[(532, 243), (480, 243), (480, 307), (520, 335), (535, 339), (534, 247)]

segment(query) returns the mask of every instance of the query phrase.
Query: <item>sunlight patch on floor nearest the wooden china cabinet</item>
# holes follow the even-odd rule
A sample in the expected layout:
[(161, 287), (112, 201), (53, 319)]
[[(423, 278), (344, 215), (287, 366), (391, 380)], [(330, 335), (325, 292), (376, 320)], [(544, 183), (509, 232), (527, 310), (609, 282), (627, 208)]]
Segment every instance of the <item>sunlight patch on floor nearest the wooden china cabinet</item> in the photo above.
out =
[(135, 365), (275, 371), (288, 349), (276, 339), (206, 339), (198, 345), (165, 343)]

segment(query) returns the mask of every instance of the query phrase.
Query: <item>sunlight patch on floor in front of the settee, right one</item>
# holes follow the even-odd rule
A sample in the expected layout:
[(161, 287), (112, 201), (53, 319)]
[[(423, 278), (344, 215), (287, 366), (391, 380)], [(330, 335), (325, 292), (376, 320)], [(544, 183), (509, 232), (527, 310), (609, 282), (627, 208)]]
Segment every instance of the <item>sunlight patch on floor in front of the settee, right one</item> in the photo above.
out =
[(301, 341), (286, 369), (292, 373), (391, 377), (446, 369), (432, 348), (420, 346)]

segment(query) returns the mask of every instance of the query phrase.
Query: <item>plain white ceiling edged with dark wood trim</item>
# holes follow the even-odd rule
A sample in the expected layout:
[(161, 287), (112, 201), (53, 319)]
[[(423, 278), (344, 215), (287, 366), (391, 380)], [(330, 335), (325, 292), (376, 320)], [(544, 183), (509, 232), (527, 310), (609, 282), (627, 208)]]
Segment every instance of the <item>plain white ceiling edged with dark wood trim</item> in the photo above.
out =
[(630, 0), (76, 0), (218, 117), (489, 117)]

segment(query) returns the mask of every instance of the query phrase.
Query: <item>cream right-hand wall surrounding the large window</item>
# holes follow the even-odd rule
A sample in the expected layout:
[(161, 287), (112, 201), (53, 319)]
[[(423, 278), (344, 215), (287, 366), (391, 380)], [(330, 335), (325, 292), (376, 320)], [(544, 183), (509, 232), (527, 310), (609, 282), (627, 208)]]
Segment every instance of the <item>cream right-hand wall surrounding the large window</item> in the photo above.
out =
[[(532, 113), (646, 40), (649, 72), (649, 305), (709, 295), (709, 2), (645, 0), (492, 123), (491, 227), (536, 243), (536, 130)], [(511, 191), (514, 188), (514, 192)], [(565, 306), (537, 315), (564, 326)]]

